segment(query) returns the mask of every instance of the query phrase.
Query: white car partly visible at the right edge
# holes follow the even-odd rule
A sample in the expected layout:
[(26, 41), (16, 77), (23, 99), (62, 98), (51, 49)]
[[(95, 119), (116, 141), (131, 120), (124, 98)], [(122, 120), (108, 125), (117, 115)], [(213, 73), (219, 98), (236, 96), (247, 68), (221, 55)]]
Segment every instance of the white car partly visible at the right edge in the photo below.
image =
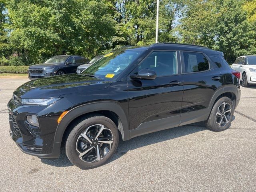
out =
[(231, 67), (240, 72), (240, 80), (243, 87), (256, 84), (256, 55), (240, 56)]

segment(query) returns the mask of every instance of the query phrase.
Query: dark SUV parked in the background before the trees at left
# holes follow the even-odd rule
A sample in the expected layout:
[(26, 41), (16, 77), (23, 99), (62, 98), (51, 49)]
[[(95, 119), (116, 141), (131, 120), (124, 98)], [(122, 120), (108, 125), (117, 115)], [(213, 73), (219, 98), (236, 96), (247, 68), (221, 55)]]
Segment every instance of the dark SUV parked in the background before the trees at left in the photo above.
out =
[(87, 64), (88, 62), (88, 58), (78, 55), (54, 56), (43, 64), (30, 66), (28, 68), (28, 78), (32, 80), (54, 75), (75, 73), (78, 66)]

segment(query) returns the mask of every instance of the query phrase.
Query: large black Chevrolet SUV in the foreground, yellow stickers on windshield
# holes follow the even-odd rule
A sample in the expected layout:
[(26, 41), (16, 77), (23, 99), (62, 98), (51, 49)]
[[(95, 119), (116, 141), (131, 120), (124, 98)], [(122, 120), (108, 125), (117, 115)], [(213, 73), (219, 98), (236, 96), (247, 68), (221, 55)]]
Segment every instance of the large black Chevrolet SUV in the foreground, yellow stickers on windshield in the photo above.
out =
[(119, 137), (204, 121), (223, 131), (240, 100), (239, 72), (222, 52), (157, 43), (106, 54), (82, 74), (27, 82), (8, 103), (10, 135), (26, 154), (101, 166)]

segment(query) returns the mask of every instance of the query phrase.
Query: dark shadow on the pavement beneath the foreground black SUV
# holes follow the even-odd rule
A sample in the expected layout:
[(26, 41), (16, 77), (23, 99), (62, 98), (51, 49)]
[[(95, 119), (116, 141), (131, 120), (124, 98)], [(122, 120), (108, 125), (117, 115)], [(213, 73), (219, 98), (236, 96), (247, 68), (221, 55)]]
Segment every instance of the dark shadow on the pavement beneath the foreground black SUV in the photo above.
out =
[[(138, 136), (136, 138), (132, 138), (127, 141), (122, 141), (120, 138), (118, 148), (112, 158), (107, 162), (110, 163), (124, 154), (126, 154), (128, 151), (134, 150), (136, 148), (152, 145), (158, 142), (164, 142), (167, 140), (171, 140), (174, 138), (186, 136), (189, 134), (193, 134), (195, 132), (200, 132), (206, 130), (206, 127), (202, 122), (196, 123), (196, 124), (189, 124), (186, 126), (180, 126), (175, 127), (171, 129), (166, 129), (142, 136)], [(68, 160), (68, 157), (66, 156), (65, 149), (61, 148), (60, 150), (60, 158), (58, 160), (48, 160), (48, 159), (41, 159), (42, 163), (48, 164), (50, 166), (56, 166), (56, 167), (66, 167), (66, 166), (73, 166), (73, 164)]]

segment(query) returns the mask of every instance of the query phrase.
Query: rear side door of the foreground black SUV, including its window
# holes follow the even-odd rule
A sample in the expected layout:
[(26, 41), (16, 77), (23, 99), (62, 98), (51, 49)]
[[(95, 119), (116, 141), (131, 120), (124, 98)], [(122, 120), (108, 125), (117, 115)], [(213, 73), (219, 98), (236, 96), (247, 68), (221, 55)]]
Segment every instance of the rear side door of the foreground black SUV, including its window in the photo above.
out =
[(223, 77), (205, 54), (183, 51), (181, 56), (184, 94), (180, 125), (184, 125), (208, 118), (207, 108), (214, 91), (222, 86)]

